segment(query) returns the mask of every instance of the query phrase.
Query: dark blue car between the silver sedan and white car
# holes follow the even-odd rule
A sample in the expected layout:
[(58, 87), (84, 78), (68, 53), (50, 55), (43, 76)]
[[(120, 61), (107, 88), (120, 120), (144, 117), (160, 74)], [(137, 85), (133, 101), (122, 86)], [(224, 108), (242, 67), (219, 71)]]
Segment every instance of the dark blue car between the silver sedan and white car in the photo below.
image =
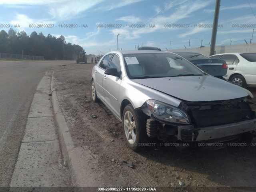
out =
[(194, 52), (174, 53), (190, 61), (209, 75), (225, 80), (223, 76), (226, 75), (228, 67), (224, 60), (209, 58), (200, 53)]

